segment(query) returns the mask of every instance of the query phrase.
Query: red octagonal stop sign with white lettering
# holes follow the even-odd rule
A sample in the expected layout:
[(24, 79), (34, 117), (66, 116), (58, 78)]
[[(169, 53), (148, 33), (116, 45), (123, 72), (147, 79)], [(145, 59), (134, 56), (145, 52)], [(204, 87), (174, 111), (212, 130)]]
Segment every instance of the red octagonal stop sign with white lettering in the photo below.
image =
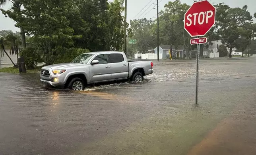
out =
[(215, 24), (215, 11), (215, 7), (207, 0), (194, 2), (185, 13), (185, 30), (192, 37), (206, 35)]

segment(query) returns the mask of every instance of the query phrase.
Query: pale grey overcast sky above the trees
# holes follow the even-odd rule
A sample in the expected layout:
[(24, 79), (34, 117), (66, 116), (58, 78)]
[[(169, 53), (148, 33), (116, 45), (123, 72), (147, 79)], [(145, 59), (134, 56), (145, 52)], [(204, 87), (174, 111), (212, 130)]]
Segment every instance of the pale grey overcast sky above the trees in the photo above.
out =
[[(110, 2), (112, 0), (109, 0)], [(170, 0), (159, 0), (159, 10), (164, 8), (164, 5), (167, 4)], [(172, 2), (174, 0), (171, 0)], [(192, 5), (194, 0), (180, 0), (181, 3), (186, 3), (188, 5)], [(209, 0), (212, 4), (219, 4), (224, 2), (225, 4), (231, 6), (232, 8), (240, 7), (242, 8), (244, 5), (248, 5), (248, 11), (250, 11), (251, 15), (256, 12), (256, 0)], [(156, 0), (127, 0), (127, 21), (131, 19), (140, 19), (143, 17), (152, 18), (156, 17), (157, 10), (152, 9), (156, 8)], [(148, 4), (148, 5), (147, 5)], [(152, 5), (151, 5), (152, 4)], [(147, 5), (147, 6), (146, 6)], [(146, 7), (145, 7), (146, 6)], [(143, 9), (145, 7), (145, 9)], [(3, 7), (3, 9), (10, 9), (11, 4), (7, 4)], [(142, 10), (143, 9), (143, 10)], [(139, 14), (138, 14), (139, 13)], [(254, 20), (256, 22), (256, 20)], [(19, 31), (19, 28), (14, 26), (15, 22), (10, 18), (4, 17), (2, 12), (0, 13), (0, 30), (13, 30)]]

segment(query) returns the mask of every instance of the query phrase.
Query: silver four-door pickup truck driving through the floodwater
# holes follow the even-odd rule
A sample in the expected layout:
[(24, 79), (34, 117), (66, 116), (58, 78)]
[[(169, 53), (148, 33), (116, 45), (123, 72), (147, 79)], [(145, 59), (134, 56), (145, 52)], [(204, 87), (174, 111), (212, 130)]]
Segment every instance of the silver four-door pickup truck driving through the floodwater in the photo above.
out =
[(83, 53), (71, 63), (53, 64), (41, 69), (40, 81), (46, 86), (83, 90), (87, 84), (130, 79), (143, 81), (153, 73), (151, 60), (128, 61), (123, 52)]

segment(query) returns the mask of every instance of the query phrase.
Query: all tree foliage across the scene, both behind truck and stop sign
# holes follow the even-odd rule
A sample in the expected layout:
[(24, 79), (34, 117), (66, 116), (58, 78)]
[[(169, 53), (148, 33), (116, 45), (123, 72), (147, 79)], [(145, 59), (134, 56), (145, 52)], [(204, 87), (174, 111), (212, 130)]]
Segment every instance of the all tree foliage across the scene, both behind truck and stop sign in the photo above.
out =
[[(0, 0), (0, 6), (7, 2)], [(13, 2), (12, 9), (1, 11), (16, 21), (16, 26), (21, 28), (21, 39), (23, 42), (26, 39), (26, 45), (29, 47), (23, 52), (23, 55), (28, 57), (27, 62), (31, 62), (29, 65), (32, 65), (32, 61), (35, 60), (33, 63), (37, 63), (40, 59), (46, 64), (70, 62), (78, 54), (88, 51), (122, 50), (124, 24), (128, 27), (122, 16), (124, 0), (9, 2)], [(21, 9), (21, 6), (24, 9)], [(165, 4), (164, 9), (159, 11), (160, 45), (171, 45), (174, 48), (182, 46), (188, 52), (194, 50), (195, 46), (190, 45), (191, 37), (183, 28), (184, 13), (188, 8), (187, 4), (175, 0)], [(247, 6), (231, 8), (220, 3), (215, 5), (215, 8), (216, 24), (206, 35), (209, 43), (200, 45), (200, 56), (203, 55), (203, 47), (208, 48), (214, 40), (221, 40), (223, 45), (230, 49), (237, 47), (240, 51), (252, 51), (250, 43), (256, 36), (256, 24), (252, 23), (252, 15), (248, 12)], [(134, 19), (130, 21), (130, 28), (127, 31), (128, 39), (137, 40), (133, 45), (133, 51), (145, 53), (157, 47), (156, 20)], [(25, 37), (25, 33), (33, 37)], [(0, 36), (6, 34), (7, 31), (0, 31)], [(127, 50), (131, 54), (131, 44), (127, 45)], [(36, 54), (35, 58), (28, 52)], [(188, 56), (188, 53), (186, 55)]]

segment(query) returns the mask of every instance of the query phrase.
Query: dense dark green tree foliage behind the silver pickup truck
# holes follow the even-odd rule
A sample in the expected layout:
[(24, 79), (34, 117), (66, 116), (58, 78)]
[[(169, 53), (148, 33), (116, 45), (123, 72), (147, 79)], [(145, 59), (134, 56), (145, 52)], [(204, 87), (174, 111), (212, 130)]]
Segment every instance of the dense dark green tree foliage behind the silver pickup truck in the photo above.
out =
[[(119, 51), (122, 48), (124, 0), (109, 3), (107, 0), (12, 2), (12, 10), (1, 9), (2, 13), (16, 21), (16, 26), (23, 28), (27, 35), (33, 35), (33, 43), (31, 40), (26, 43), (37, 47), (47, 64), (70, 61), (82, 49), (108, 51), (113, 48)], [(34, 47), (24, 51), (23, 55), (29, 56), (27, 52), (31, 48)]]

